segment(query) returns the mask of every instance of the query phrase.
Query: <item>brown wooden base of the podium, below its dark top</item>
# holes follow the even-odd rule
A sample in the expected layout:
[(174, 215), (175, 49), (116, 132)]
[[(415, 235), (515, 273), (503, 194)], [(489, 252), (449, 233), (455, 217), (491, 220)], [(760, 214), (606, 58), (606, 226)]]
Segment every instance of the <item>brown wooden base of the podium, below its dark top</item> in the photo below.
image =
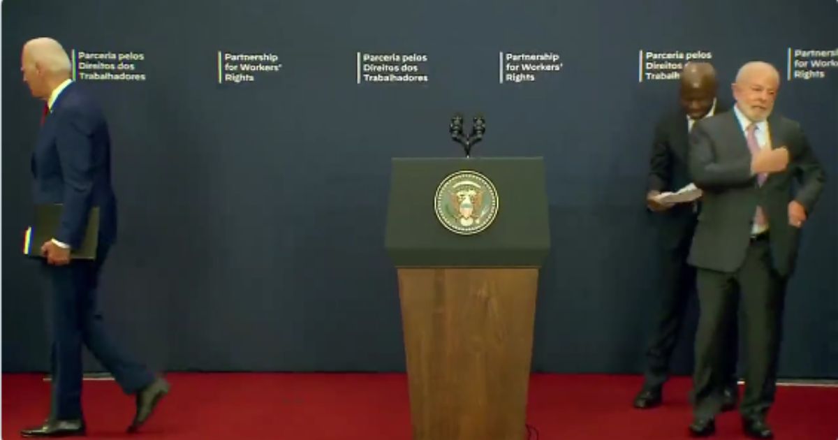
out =
[(399, 268), (414, 440), (523, 440), (536, 268)]

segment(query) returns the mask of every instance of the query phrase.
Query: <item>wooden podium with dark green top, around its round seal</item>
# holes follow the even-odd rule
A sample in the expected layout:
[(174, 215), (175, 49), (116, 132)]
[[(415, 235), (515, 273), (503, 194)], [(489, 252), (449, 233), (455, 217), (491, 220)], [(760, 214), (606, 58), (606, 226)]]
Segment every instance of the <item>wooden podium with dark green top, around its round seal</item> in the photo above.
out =
[[(494, 184), (483, 231), (437, 217), (437, 189)], [(485, 202), (485, 200), (484, 200)], [(538, 270), (550, 250), (541, 158), (393, 159), (385, 246), (398, 272), (415, 440), (523, 440)]]

